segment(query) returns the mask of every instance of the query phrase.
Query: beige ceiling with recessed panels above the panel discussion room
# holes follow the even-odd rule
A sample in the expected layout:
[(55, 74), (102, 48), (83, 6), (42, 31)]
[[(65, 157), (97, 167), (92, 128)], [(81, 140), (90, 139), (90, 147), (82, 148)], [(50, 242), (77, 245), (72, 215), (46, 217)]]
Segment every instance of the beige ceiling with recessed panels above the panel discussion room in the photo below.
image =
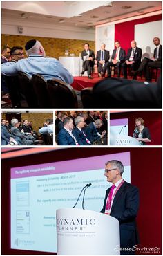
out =
[(162, 1), (1, 1), (1, 20), (95, 28), (162, 10)]

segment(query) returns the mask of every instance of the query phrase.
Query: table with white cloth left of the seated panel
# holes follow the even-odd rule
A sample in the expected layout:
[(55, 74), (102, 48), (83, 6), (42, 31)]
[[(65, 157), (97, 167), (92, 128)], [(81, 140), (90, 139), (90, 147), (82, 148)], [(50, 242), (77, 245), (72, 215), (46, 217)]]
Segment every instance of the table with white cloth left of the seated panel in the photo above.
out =
[(73, 75), (73, 77), (80, 75), (83, 62), (81, 57), (59, 57), (59, 62)]

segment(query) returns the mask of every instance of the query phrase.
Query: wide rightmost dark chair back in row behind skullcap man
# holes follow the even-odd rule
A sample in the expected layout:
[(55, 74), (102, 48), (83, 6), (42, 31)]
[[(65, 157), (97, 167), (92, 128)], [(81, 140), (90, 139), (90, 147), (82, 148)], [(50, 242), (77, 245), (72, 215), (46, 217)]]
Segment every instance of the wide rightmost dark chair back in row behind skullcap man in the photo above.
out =
[(78, 107), (77, 95), (70, 84), (61, 80), (47, 81), (48, 97), (52, 108), (75, 108)]

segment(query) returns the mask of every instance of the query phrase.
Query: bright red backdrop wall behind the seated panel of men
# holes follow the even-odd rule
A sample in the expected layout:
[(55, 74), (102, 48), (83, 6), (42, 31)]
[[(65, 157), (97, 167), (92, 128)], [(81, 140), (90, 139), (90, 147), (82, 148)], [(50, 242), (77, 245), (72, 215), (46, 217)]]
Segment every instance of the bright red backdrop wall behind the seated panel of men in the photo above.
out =
[[(115, 24), (115, 40), (119, 40), (121, 42), (122, 48), (124, 48), (127, 53), (128, 48), (131, 47), (130, 42), (134, 40), (134, 26), (137, 24), (143, 24), (151, 21), (159, 21), (161, 19), (162, 15), (155, 15), (151, 17), (134, 19), (133, 21), (126, 21), (123, 23)], [(155, 36), (157, 37), (157, 35)]]

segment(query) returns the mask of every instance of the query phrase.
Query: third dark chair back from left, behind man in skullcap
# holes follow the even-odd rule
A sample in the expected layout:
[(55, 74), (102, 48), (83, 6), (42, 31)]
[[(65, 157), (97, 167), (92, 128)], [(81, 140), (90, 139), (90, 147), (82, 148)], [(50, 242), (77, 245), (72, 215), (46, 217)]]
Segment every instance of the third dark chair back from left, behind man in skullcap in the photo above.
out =
[(32, 75), (32, 86), (37, 95), (37, 103), (40, 108), (50, 108), (48, 89), (44, 77), (38, 74)]

